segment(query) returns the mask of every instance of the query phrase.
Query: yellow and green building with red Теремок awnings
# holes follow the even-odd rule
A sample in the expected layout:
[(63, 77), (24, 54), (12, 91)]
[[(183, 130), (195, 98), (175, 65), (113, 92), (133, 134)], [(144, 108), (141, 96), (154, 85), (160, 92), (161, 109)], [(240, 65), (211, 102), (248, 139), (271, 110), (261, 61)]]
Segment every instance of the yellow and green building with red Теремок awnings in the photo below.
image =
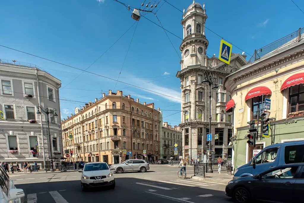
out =
[[(290, 36), (293, 36), (290, 38)], [(233, 112), (234, 168), (248, 163), (265, 146), (304, 140), (304, 40), (303, 29), (258, 49), (250, 60), (224, 83), (231, 98), (226, 112)], [(285, 41), (283, 41), (285, 40)], [(282, 41), (282, 42), (281, 42)], [(283, 44), (283, 45), (281, 45)], [(275, 49), (273, 49), (275, 47)], [(258, 54), (255, 52), (255, 56)], [(264, 54), (263, 54), (264, 53)], [(265, 98), (270, 109), (264, 108)], [(265, 112), (267, 111), (267, 112)], [(261, 113), (269, 114), (269, 137), (261, 136)], [(249, 146), (247, 122), (258, 129), (256, 146)]]

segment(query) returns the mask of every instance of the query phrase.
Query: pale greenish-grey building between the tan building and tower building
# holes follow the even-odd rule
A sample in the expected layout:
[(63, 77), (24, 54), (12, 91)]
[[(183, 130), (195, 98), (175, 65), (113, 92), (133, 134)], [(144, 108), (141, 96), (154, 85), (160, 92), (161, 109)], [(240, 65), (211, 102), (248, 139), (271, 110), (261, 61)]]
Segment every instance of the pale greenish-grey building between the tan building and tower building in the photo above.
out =
[[(182, 155), (182, 133), (179, 126), (168, 125), (168, 122), (163, 122), (161, 127), (160, 140), (161, 140), (161, 158), (169, 159)], [(178, 154), (174, 155), (174, 145), (177, 144)]]

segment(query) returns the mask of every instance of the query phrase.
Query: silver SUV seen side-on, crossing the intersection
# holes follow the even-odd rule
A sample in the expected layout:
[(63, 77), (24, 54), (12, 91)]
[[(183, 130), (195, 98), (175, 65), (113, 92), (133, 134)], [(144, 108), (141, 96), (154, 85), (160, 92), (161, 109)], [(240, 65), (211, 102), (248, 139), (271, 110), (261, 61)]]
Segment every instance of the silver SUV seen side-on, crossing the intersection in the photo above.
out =
[(147, 170), (149, 170), (150, 167), (149, 167), (149, 163), (147, 163), (145, 160), (129, 159), (124, 161), (123, 163), (117, 163), (111, 165), (110, 169), (118, 174), (127, 171), (140, 171), (144, 173)]

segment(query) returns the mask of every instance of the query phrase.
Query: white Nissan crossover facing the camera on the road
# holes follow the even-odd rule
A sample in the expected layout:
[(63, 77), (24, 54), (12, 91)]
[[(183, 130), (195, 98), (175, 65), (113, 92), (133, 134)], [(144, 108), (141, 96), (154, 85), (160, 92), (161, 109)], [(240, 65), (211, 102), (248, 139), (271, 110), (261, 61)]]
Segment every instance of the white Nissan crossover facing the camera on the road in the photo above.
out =
[(81, 174), (81, 189), (109, 187), (115, 188), (115, 180), (112, 171), (105, 162), (85, 163), (83, 169), (78, 170)]

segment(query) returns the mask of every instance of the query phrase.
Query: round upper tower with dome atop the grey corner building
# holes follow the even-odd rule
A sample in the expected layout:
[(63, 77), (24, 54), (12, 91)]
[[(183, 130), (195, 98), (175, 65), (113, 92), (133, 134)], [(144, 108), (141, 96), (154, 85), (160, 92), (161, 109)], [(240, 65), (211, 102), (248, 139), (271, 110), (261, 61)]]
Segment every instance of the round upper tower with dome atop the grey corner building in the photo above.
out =
[[(185, 11), (185, 9), (184, 9)], [(181, 42), (181, 69), (191, 65), (204, 65), (208, 40), (205, 36), (205, 22), (207, 19), (205, 3), (203, 6), (194, 2), (184, 12), (183, 41)]]

